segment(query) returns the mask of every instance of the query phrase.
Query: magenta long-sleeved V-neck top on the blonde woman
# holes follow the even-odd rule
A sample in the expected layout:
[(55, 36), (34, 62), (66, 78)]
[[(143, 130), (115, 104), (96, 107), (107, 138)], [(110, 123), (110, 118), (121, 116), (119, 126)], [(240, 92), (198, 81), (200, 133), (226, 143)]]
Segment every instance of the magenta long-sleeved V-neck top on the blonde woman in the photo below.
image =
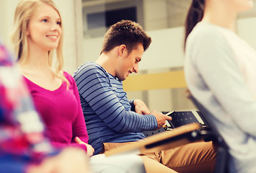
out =
[(67, 72), (64, 71), (63, 74), (69, 81), (69, 90), (66, 89), (65, 81), (58, 89), (50, 91), (24, 78), (32, 94), (35, 108), (45, 123), (46, 136), (50, 138), (53, 146), (58, 148), (78, 146), (87, 151), (86, 146), (74, 141), (78, 136), (81, 141), (88, 143), (87, 128), (76, 82)]

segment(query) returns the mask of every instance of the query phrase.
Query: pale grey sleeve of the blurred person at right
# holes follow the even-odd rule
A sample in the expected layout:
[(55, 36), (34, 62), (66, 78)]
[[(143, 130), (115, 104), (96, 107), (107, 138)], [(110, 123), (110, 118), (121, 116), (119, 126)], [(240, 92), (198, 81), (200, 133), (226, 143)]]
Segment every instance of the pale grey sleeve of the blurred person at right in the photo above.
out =
[(256, 136), (256, 101), (220, 32), (201, 32), (191, 51), (194, 66), (223, 109), (245, 133)]

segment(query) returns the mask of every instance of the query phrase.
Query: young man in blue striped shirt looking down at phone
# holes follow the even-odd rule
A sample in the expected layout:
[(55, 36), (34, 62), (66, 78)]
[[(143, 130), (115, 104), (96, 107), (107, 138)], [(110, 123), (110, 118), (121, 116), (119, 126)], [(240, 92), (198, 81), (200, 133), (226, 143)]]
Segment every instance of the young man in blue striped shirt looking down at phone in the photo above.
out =
[[(94, 154), (145, 138), (142, 131), (156, 130), (172, 120), (156, 110), (150, 112), (141, 100), (128, 100), (123, 91), (122, 81), (138, 72), (150, 44), (151, 37), (140, 25), (123, 20), (106, 32), (96, 63), (84, 63), (74, 73)], [(193, 143), (144, 155), (177, 172), (211, 172), (216, 152), (212, 143)], [(158, 162), (158, 167), (164, 167)]]

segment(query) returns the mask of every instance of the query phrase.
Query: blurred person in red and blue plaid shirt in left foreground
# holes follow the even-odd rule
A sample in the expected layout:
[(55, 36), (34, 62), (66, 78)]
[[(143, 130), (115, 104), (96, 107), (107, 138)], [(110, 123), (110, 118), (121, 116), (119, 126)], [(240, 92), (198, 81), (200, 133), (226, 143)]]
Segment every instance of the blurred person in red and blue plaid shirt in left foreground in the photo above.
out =
[(24, 80), (1, 43), (0, 98), (0, 173), (89, 172), (82, 149), (65, 148), (58, 152), (44, 138), (43, 123)]

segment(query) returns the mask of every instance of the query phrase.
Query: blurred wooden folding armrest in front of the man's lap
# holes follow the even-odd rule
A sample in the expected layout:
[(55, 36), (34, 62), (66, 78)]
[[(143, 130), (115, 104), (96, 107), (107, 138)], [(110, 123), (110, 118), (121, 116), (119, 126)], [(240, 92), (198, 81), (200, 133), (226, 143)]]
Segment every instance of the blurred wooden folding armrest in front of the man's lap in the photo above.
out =
[(169, 148), (175, 148), (187, 143), (199, 141), (198, 131), (200, 128), (201, 125), (199, 123), (182, 125), (173, 130), (167, 130), (154, 136), (149, 136), (148, 138), (144, 138), (141, 141), (128, 143), (127, 145), (119, 146), (109, 151), (105, 151), (105, 155), (111, 156), (113, 154), (120, 154), (134, 150), (162, 151)]

